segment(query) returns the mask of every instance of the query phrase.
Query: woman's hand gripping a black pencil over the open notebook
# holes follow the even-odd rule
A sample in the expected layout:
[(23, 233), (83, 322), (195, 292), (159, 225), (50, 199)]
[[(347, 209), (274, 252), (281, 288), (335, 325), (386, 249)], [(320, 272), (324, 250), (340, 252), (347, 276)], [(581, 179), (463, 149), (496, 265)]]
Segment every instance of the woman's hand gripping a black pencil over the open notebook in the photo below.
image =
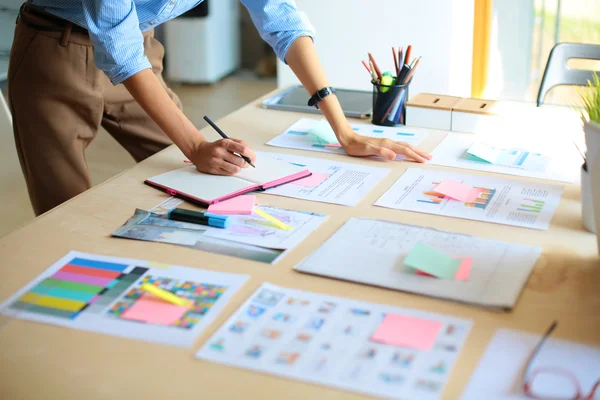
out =
[(198, 171), (214, 175), (235, 175), (248, 168), (243, 158), (237, 153), (256, 161), (256, 154), (244, 141), (239, 139), (220, 139), (215, 142), (201, 141), (194, 146), (190, 161)]

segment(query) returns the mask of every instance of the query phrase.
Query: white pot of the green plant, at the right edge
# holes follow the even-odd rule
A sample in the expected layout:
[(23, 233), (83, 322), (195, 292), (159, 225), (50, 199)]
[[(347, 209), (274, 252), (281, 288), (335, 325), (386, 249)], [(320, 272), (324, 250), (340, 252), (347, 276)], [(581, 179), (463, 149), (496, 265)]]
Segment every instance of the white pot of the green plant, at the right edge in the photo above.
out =
[(583, 126), (587, 146), (586, 164), (592, 189), (592, 209), (596, 224), (600, 254), (600, 124), (586, 122)]

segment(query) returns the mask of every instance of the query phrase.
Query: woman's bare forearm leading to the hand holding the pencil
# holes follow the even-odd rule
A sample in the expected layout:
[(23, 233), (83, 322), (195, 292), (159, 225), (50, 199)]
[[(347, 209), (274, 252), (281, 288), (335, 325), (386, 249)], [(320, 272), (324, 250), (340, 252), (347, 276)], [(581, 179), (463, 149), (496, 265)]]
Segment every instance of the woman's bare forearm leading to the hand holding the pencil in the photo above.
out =
[(123, 84), (186, 157), (191, 157), (198, 143), (206, 140), (171, 100), (152, 70), (140, 71)]

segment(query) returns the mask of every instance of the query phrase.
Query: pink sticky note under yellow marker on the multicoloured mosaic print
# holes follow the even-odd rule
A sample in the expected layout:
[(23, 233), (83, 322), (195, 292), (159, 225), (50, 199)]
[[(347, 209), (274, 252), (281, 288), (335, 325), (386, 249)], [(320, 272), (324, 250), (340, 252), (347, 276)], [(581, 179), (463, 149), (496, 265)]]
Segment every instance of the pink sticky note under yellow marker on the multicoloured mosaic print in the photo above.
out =
[(155, 325), (172, 325), (188, 310), (188, 307), (143, 296), (121, 314), (121, 318)]

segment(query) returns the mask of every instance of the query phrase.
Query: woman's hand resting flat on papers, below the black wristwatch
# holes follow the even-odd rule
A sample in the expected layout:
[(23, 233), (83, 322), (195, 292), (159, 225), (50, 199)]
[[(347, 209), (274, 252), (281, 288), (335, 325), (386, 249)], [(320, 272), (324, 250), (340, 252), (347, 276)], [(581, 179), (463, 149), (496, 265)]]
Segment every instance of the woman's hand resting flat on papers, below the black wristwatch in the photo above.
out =
[(350, 127), (338, 134), (338, 138), (346, 153), (351, 156), (379, 156), (393, 160), (400, 154), (417, 162), (431, 160), (431, 154), (408, 143), (361, 136)]

